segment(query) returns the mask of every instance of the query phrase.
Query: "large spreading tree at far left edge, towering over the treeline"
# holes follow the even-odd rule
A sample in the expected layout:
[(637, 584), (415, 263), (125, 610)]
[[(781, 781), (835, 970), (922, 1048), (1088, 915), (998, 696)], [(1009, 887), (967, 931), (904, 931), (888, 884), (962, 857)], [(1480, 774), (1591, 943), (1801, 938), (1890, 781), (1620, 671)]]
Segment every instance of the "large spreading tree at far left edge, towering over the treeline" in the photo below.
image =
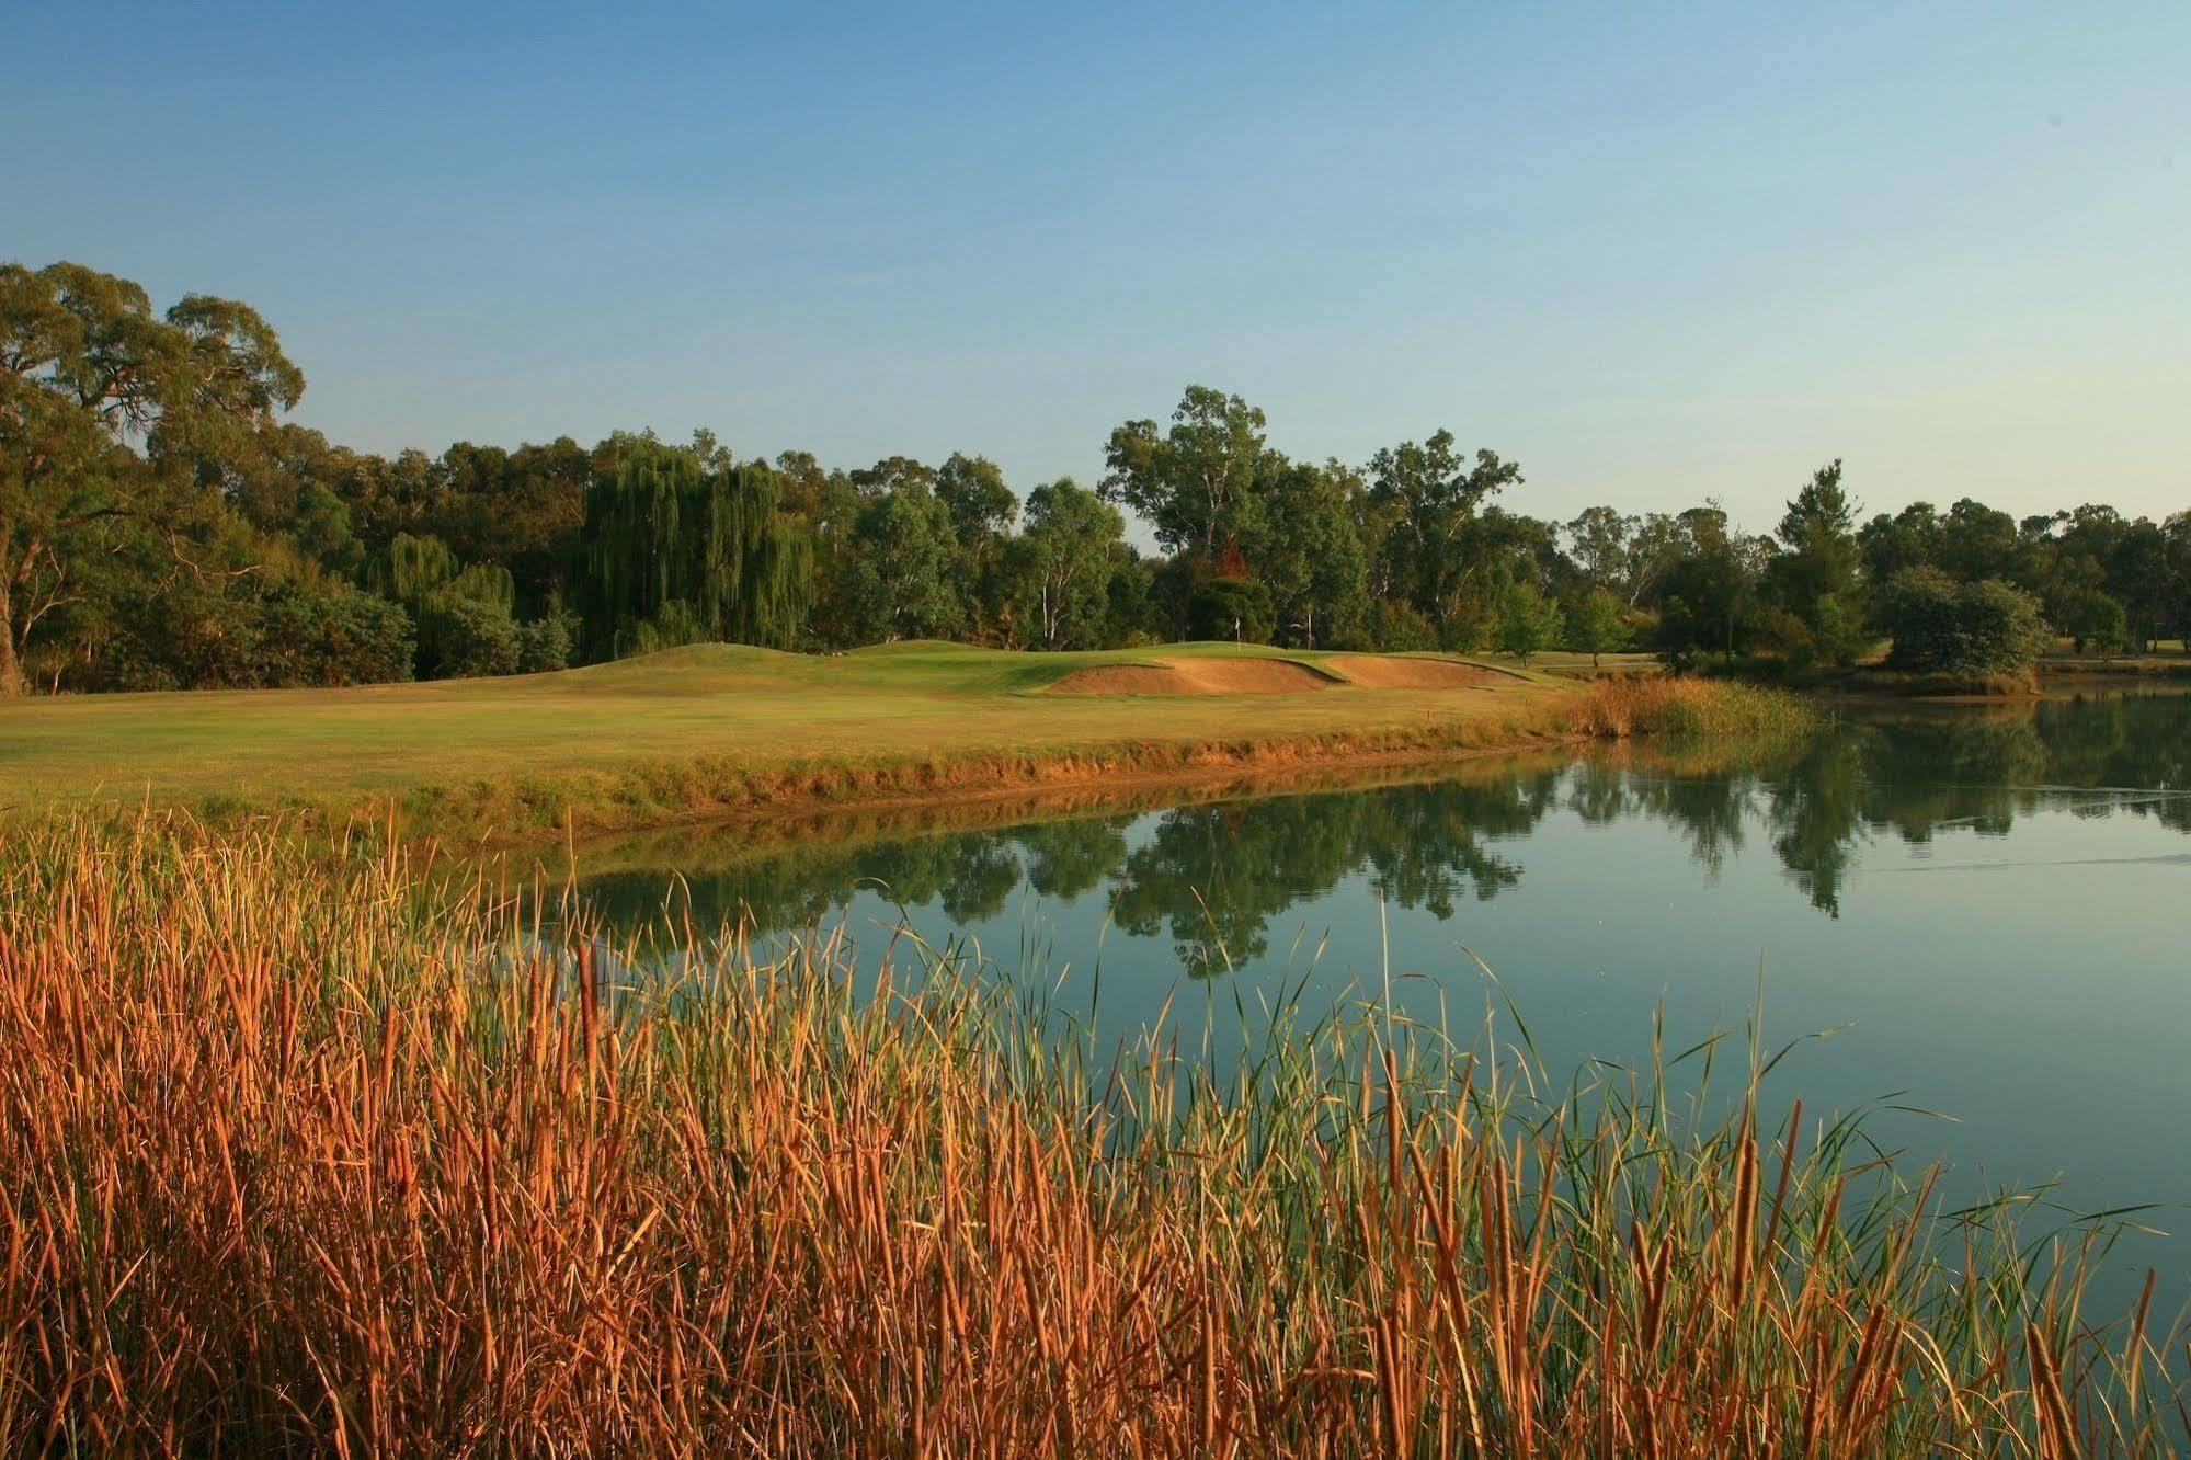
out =
[(0, 265), (0, 695), (24, 688), (31, 634), (110, 526), (180, 531), (202, 476), (302, 395), (248, 305), (186, 294), (153, 316), (127, 278)]

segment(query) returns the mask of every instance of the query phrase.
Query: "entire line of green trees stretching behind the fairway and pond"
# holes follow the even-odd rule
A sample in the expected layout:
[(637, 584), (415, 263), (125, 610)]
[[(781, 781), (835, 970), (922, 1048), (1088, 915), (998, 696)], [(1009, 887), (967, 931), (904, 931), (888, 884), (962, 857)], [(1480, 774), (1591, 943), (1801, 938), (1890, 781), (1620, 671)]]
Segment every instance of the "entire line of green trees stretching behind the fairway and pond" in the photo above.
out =
[[(824, 467), (708, 432), (438, 456), (285, 421), (305, 375), (248, 305), (0, 265), (0, 693), (495, 675), (730, 640), (1606, 653), (2029, 664), (2191, 627), (2191, 513), (1974, 498), (1860, 520), (1840, 463), (1770, 535), (1716, 504), (1569, 522), (1448, 430), (1295, 460), (1190, 386), (1093, 484), (979, 454)], [(1139, 517), (1157, 550), (1126, 535)]]

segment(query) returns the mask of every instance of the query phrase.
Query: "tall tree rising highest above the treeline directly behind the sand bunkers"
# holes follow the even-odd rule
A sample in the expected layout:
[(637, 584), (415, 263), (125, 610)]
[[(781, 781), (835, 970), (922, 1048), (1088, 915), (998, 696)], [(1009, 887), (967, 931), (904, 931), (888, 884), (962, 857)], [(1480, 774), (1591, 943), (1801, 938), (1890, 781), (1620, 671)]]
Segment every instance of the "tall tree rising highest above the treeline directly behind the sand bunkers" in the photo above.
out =
[(1155, 421), (1126, 421), (1111, 432), (1098, 491), (1139, 513), (1172, 552), (1192, 552), (1209, 572), (1225, 572), (1258, 524), (1262, 432), (1262, 412), (1238, 395), (1188, 386), (1161, 436)]

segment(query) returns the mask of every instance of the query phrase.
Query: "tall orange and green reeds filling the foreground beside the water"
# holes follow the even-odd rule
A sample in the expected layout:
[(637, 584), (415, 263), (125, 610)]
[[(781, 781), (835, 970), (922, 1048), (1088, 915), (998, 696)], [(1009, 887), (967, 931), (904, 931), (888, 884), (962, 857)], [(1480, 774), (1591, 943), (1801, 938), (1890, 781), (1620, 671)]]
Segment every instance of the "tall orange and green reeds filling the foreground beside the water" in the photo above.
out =
[(1374, 1015), (1216, 1083), (929, 958), (673, 984), (169, 822), (0, 875), (0, 1445), (2149, 1453), (2141, 1307), (1851, 1125), (1538, 1098)]

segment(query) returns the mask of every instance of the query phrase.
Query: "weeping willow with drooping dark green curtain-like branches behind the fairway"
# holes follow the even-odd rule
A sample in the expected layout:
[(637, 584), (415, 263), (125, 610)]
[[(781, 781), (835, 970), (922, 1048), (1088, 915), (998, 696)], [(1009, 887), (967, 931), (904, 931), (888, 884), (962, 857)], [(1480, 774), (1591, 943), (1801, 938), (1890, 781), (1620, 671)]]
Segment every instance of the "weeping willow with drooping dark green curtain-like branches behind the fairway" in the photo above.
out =
[(686, 449), (638, 443), (585, 493), (572, 605), (587, 651), (727, 640), (789, 649), (813, 596), (813, 544), (758, 463), (708, 471)]

